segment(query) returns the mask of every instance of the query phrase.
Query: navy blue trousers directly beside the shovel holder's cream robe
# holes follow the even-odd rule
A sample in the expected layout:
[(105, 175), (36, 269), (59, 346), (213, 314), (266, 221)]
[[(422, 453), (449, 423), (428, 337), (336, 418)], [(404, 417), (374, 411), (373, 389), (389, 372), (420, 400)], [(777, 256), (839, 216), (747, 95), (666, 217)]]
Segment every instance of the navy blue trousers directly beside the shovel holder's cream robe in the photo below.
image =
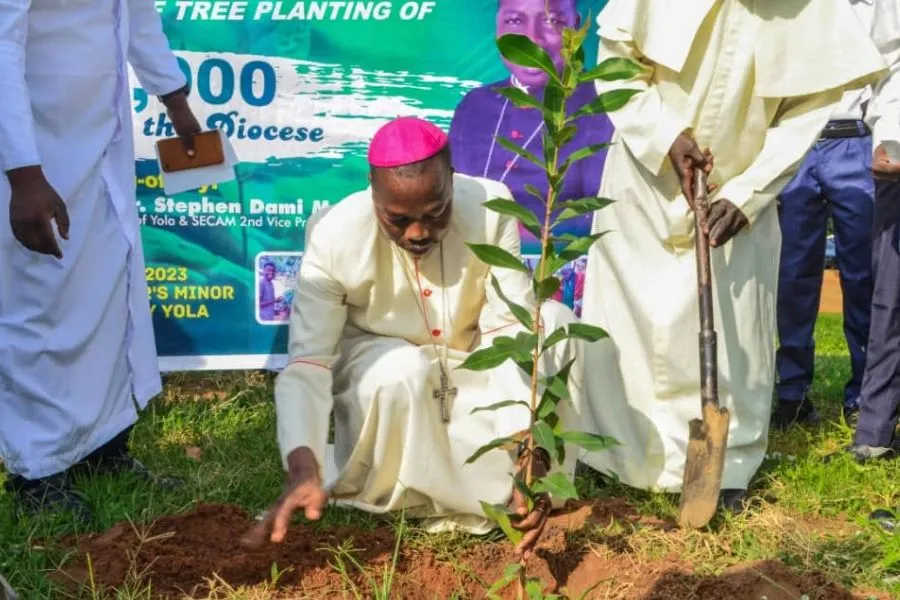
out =
[(776, 355), (778, 397), (799, 402), (812, 386), (828, 217), (834, 224), (852, 376), (844, 405), (859, 401), (872, 300), (872, 138), (819, 140), (779, 199), (782, 246)]

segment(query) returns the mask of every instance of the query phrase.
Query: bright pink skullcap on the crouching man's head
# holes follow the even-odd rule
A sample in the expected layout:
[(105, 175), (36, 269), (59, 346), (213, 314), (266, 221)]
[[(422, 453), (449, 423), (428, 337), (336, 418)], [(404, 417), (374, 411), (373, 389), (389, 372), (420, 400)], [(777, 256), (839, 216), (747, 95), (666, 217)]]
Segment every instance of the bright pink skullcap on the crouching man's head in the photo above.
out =
[(400, 117), (382, 125), (369, 144), (369, 164), (377, 168), (419, 162), (444, 149), (447, 134), (428, 121)]

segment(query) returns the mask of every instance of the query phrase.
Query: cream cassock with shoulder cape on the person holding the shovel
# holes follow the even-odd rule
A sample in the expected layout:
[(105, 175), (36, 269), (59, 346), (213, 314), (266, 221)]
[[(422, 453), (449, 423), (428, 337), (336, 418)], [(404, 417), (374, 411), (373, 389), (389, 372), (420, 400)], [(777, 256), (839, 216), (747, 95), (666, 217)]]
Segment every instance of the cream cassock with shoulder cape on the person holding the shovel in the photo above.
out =
[(585, 429), (622, 446), (587, 454), (626, 484), (677, 492), (688, 421), (700, 417), (694, 221), (667, 157), (690, 130), (715, 157), (710, 183), (750, 226), (712, 251), (719, 398), (731, 411), (725, 489), (746, 489), (766, 450), (781, 244), (775, 199), (843, 89), (884, 67), (846, 0), (612, 0), (599, 60), (639, 60), (641, 90), (616, 133), (595, 213), (611, 230), (588, 258), (582, 319), (610, 339), (586, 349)]

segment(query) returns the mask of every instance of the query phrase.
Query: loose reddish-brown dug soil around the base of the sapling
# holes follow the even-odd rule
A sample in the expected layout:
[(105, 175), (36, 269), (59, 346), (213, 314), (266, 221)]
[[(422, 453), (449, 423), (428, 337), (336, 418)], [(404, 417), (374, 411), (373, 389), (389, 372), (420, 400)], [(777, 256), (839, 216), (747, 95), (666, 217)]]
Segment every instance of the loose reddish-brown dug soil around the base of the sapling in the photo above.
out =
[[(554, 517), (542, 547), (529, 563), (529, 573), (540, 577), (548, 589), (574, 597), (593, 589), (590, 598), (797, 600), (804, 594), (809, 600), (861, 598), (822, 576), (797, 574), (777, 562), (701, 577), (678, 556), (638, 562), (627, 554), (624, 539), (618, 549), (615, 539), (604, 540), (611, 552), (600, 556), (579, 543), (579, 536), (567, 536), (567, 531), (588, 521), (609, 523), (611, 519), (637, 521), (639, 517), (621, 501), (581, 505)], [(277, 591), (267, 597), (336, 598), (351, 584), (334, 569), (335, 555), (329, 548), (352, 545), (354, 558), (375, 581), (380, 581), (393, 560), (395, 536), (387, 527), (364, 531), (297, 526), (283, 545), (248, 551), (238, 540), (251, 523), (240, 508), (200, 505), (192, 512), (138, 528), (140, 533), (130, 524), (119, 524), (101, 535), (75, 541), (80, 558), (62, 575), (69, 582), (86, 582), (89, 557), (93, 579), (100, 586), (119, 587), (141, 579), (151, 584), (156, 598), (205, 597), (216, 576), (233, 587), (262, 585), (271, 582), (276, 565), (282, 574)], [(669, 527), (666, 523), (649, 526)], [(509, 546), (500, 543), (475, 545), (451, 558), (441, 560), (431, 550), (403, 548), (391, 597), (483, 598), (485, 589), (512, 562)], [(371, 583), (350, 561), (345, 564), (347, 574), (366, 596)]]

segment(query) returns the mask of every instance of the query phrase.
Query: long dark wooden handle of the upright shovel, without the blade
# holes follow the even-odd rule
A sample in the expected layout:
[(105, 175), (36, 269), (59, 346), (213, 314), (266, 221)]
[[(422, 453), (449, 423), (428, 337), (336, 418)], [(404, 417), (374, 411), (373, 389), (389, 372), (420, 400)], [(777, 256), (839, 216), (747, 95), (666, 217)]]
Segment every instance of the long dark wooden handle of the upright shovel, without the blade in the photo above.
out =
[(716, 330), (713, 323), (712, 269), (709, 259), (709, 236), (705, 233), (709, 220), (709, 196), (706, 173), (694, 171), (694, 225), (697, 249), (697, 294), (700, 298), (700, 397), (704, 407), (719, 406)]

